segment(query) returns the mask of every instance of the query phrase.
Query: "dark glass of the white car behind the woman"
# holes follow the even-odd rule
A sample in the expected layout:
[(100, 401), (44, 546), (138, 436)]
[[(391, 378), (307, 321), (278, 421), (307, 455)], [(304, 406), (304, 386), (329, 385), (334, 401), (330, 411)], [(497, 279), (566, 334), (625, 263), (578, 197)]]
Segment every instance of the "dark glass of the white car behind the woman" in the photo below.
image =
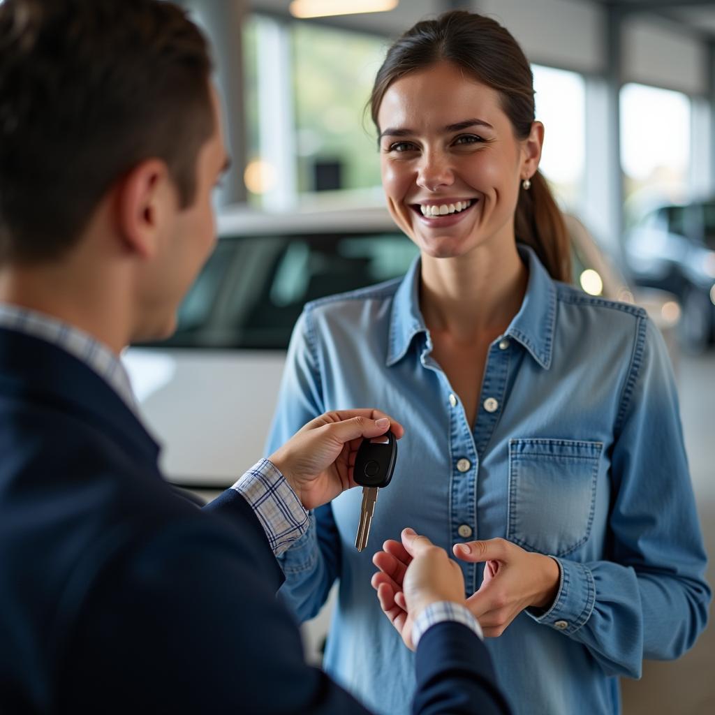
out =
[(398, 232), (222, 237), (177, 331), (145, 345), (285, 349), (306, 302), (400, 277), (417, 252)]

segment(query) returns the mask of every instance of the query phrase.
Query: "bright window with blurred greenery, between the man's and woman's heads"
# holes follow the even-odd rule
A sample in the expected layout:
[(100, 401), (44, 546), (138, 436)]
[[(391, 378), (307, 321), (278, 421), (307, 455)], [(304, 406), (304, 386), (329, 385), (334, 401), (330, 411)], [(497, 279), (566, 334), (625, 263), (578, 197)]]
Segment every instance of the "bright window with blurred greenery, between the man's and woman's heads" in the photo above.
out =
[[(252, 15), (243, 43), (250, 200), (272, 207), (275, 196), (292, 194), (297, 202), (344, 189), (371, 196), (380, 186), (380, 156), (364, 109), (387, 41)], [(271, 43), (279, 51), (267, 51)], [(261, 109), (281, 105), (272, 114)]]

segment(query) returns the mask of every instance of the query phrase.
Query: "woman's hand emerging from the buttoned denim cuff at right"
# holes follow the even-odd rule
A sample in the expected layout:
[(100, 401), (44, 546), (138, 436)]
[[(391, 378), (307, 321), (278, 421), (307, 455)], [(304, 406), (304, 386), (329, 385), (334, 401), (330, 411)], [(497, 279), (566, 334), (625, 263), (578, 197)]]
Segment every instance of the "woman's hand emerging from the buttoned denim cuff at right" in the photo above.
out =
[(482, 585), (467, 599), (485, 636), (501, 636), (524, 608), (550, 608), (556, 598), (561, 573), (550, 556), (503, 538), (455, 544), (453, 551), (462, 561), (486, 562)]

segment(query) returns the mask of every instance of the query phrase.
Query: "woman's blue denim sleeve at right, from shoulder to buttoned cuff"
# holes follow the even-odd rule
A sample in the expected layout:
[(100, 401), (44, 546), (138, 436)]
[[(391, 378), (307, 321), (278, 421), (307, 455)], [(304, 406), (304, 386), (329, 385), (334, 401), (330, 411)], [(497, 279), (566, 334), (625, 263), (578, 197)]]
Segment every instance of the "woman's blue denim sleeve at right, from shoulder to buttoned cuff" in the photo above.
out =
[(639, 319), (611, 455), (608, 561), (556, 558), (558, 593), (538, 623), (583, 643), (609, 675), (675, 659), (707, 622), (711, 592), (665, 344)]

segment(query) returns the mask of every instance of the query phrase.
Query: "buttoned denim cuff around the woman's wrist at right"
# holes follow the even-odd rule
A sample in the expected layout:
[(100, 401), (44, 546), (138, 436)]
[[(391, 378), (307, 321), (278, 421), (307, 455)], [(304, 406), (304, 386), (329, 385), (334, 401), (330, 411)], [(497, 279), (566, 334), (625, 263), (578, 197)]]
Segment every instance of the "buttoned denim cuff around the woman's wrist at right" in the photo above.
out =
[(583, 563), (551, 558), (558, 563), (561, 572), (556, 599), (546, 613), (537, 613), (532, 608), (527, 608), (526, 613), (537, 623), (570, 635), (591, 618), (596, 604), (596, 583), (591, 569)]

